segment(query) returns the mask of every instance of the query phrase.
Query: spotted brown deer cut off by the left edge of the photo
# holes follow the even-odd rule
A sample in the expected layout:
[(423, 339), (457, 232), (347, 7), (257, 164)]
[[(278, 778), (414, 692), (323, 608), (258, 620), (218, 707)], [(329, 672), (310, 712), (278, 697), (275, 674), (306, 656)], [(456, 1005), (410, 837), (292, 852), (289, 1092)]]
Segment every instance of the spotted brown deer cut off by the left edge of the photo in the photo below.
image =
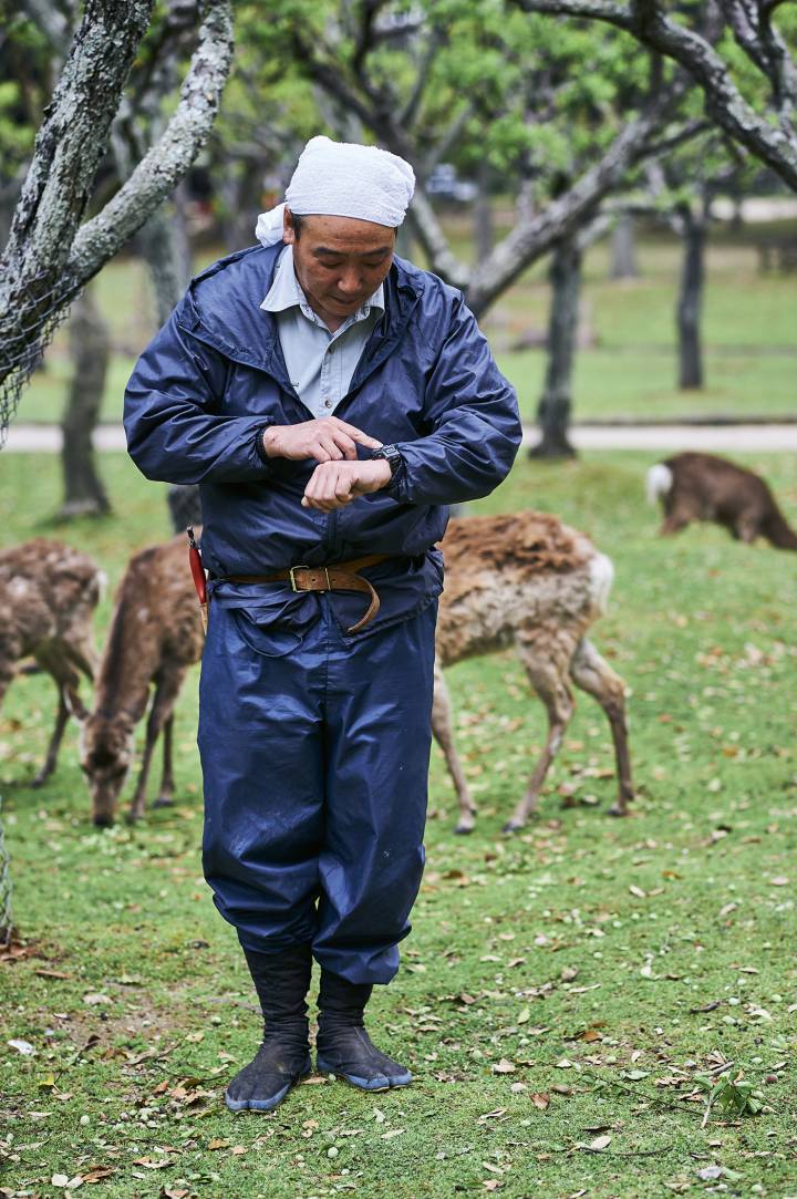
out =
[(58, 687), (55, 727), (32, 787), (55, 770), (70, 713), (86, 715), (78, 687), (80, 673), (89, 679), (95, 673), (92, 617), (103, 584), (90, 558), (58, 541), (37, 537), (0, 552), (0, 703), (25, 657)]

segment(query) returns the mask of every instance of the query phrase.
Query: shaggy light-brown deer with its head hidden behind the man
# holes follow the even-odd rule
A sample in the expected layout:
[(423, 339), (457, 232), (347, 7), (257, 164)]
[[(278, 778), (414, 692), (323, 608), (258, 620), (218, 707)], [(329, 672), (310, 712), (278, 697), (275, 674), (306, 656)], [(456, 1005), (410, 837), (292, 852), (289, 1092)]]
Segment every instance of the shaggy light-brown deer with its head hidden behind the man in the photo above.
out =
[(614, 576), (609, 559), (584, 534), (539, 512), (452, 520), (442, 549), (446, 588), (437, 620), (431, 729), (459, 796), (457, 832), (472, 830), (476, 807), (454, 751), (441, 668), (511, 645), (545, 705), (548, 737), (505, 832), (521, 829), (535, 809), (573, 715), (572, 682), (594, 695), (609, 718), (618, 784), (610, 811), (626, 815), (634, 789), (624, 685), (585, 635), (605, 608)]

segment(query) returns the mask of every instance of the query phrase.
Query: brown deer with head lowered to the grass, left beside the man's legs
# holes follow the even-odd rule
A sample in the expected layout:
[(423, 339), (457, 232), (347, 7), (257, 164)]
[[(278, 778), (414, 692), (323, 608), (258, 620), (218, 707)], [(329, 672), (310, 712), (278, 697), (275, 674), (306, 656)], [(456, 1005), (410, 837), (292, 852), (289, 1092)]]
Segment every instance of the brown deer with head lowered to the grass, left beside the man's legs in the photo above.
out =
[(174, 705), (188, 668), (203, 652), (197, 595), (186, 561), (186, 538), (174, 537), (135, 554), (116, 592), (95, 709), (83, 724), (80, 766), (96, 825), (113, 823), (116, 799), (133, 760), (134, 730), (155, 687), (131, 820), (144, 815), (146, 781), (163, 730), (163, 776), (156, 807), (171, 803)]

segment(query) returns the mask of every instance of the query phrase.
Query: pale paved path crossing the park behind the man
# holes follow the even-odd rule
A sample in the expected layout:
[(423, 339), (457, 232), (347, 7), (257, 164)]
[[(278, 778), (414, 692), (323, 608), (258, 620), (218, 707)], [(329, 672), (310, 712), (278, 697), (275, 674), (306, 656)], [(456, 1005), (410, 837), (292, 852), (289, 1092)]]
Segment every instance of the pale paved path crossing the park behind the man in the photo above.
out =
[[(576, 424), (572, 430), (578, 450), (705, 450), (710, 453), (741, 453), (766, 450), (797, 450), (797, 424)], [(538, 440), (537, 429), (526, 426), (526, 444)], [(119, 424), (101, 424), (95, 433), (98, 450), (123, 450), (125, 435)], [(8, 430), (5, 452), (43, 451), (55, 453), (61, 446), (56, 424), (14, 423)]]

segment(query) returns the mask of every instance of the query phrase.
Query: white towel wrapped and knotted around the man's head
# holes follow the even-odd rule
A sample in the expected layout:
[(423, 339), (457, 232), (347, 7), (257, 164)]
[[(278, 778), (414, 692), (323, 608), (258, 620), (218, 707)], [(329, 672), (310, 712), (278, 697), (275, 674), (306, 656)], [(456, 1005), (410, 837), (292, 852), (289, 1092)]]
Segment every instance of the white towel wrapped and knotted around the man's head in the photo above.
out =
[(378, 146), (310, 138), (285, 191), (285, 204), (260, 215), (255, 236), (264, 246), (282, 241), (285, 206), (300, 217), (355, 217), (396, 229), (413, 191), (415, 173), (398, 155)]

